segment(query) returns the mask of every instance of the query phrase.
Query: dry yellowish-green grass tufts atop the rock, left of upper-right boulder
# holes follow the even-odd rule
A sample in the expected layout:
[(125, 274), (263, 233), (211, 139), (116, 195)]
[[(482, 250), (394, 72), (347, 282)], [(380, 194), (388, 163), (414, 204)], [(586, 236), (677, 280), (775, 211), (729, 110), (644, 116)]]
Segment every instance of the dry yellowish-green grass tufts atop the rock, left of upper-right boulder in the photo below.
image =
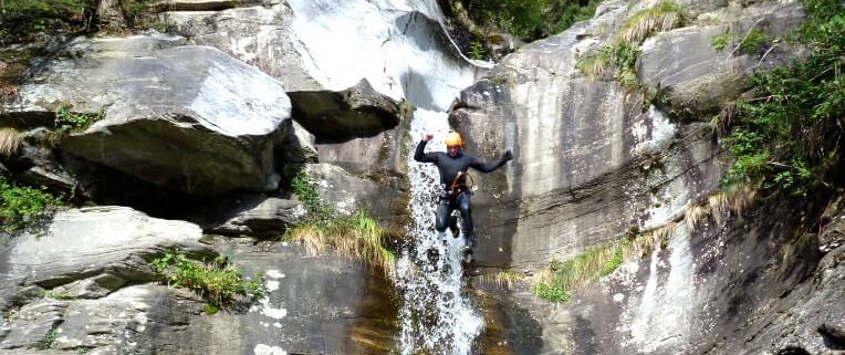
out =
[(668, 31), (684, 21), (681, 8), (675, 2), (663, 1), (654, 8), (638, 11), (625, 21), (622, 31), (611, 44), (597, 53), (578, 59), (575, 66), (588, 77), (597, 77), (614, 70), (614, 79), (627, 88), (637, 87), (636, 62), (639, 44), (658, 31)]

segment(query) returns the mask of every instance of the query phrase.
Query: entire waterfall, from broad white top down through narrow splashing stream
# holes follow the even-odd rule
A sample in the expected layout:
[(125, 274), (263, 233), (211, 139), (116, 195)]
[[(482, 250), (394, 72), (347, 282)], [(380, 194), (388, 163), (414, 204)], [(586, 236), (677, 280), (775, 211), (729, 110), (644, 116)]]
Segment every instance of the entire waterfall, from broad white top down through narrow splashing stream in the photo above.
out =
[[(435, 0), (289, 0), (304, 66), (321, 85), (343, 90), (366, 79), (378, 92), (406, 100), (416, 111), (406, 144), (413, 155), (422, 133), (429, 149), (445, 150), (449, 105), (474, 81), (476, 67), (442, 41), (442, 13)], [(482, 319), (465, 294), (462, 238), (438, 236), (434, 210), (439, 181), (431, 164), (408, 156), (408, 248), (399, 255), (399, 351), (406, 354), (472, 352)], [(444, 243), (444, 240), (446, 243)], [(434, 258), (434, 255), (437, 258)]]

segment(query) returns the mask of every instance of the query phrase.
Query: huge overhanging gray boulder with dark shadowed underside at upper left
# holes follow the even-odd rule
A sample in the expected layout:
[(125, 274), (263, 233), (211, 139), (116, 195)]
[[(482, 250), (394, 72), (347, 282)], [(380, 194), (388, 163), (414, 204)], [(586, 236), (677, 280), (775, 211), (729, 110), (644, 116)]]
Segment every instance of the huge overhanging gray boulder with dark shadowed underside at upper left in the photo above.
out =
[(7, 108), (105, 112), (61, 149), (155, 185), (195, 195), (274, 189), (273, 142), (291, 112), (282, 84), (212, 48), (156, 50), (170, 42), (77, 41), (62, 52), (74, 58), (45, 65)]

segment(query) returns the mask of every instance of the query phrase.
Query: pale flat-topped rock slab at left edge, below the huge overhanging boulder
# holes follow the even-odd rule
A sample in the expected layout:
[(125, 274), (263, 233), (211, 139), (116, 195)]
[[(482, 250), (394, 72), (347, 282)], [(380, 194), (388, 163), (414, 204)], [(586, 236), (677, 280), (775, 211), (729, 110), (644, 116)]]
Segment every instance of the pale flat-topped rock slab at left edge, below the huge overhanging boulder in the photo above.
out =
[(108, 272), (123, 280), (149, 280), (147, 261), (173, 248), (198, 252), (198, 226), (150, 218), (125, 207), (58, 212), (43, 234), (8, 242), (0, 273), (19, 284), (45, 288)]

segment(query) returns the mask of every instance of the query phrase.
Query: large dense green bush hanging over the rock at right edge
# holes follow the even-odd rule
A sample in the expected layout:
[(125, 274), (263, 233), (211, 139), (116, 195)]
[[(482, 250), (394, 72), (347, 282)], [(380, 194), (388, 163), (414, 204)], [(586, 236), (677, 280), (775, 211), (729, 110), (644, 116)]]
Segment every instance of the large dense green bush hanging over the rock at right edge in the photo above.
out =
[[(757, 73), (737, 103), (724, 143), (734, 158), (724, 182), (804, 194), (827, 185), (842, 155), (845, 118), (845, 9), (834, 0), (804, 0), (807, 18), (799, 40), (803, 61)], [(762, 40), (760, 40), (762, 39)], [(765, 36), (749, 34), (740, 46), (757, 50)]]

